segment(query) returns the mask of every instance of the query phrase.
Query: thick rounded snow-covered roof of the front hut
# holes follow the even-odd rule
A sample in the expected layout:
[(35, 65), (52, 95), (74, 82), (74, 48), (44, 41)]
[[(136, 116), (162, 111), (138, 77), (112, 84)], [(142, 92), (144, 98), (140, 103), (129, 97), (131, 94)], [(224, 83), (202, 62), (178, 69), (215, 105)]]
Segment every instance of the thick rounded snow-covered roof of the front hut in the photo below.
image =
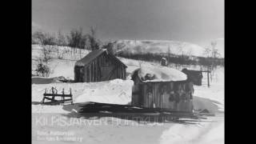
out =
[(142, 66), (135, 71), (138, 71), (138, 78), (142, 82), (176, 82), (187, 78), (186, 74), (167, 66)]

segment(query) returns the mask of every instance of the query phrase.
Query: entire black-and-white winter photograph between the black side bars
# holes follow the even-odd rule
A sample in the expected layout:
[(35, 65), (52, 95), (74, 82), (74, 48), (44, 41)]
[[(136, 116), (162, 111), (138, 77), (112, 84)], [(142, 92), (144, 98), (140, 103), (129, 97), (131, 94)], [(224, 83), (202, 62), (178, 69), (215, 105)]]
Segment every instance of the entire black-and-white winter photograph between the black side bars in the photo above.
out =
[(224, 0), (31, 0), (32, 144), (224, 144)]

